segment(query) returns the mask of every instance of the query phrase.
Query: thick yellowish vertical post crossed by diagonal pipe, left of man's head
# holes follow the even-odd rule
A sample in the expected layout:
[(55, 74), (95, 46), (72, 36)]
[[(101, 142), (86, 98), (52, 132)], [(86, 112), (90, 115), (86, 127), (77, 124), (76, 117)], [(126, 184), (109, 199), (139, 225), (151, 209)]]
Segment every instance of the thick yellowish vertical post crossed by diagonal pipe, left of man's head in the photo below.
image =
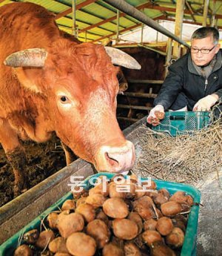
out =
[[(184, 19), (184, 5), (185, 0), (178, 0), (176, 4), (176, 16), (175, 16), (175, 36), (181, 38), (183, 29), (183, 19)], [(172, 55), (177, 59), (181, 56), (181, 47), (178, 42), (173, 45)]]

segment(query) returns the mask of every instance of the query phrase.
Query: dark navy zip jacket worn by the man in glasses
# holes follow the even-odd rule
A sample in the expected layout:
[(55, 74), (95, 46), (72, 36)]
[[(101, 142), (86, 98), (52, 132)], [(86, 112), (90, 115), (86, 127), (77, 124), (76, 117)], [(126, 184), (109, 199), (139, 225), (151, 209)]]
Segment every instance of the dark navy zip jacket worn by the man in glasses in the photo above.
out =
[[(215, 93), (222, 97), (222, 50), (217, 53), (217, 61), (208, 79), (198, 74), (190, 53), (169, 66), (169, 73), (161, 87), (154, 105), (163, 105), (165, 111), (172, 106), (179, 94), (187, 99), (188, 111), (192, 111), (199, 99)], [(181, 107), (182, 108), (182, 107)]]

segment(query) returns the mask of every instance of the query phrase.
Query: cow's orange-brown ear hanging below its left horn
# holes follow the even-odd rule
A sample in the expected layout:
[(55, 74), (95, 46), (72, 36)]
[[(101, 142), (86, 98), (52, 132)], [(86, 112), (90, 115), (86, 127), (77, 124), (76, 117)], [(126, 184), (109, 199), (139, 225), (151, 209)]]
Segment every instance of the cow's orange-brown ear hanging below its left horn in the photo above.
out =
[(38, 74), (35, 74), (35, 69), (30, 70), (27, 68), (14, 68), (14, 72), (24, 88), (27, 88), (34, 93), (42, 93), (40, 86), (36, 82), (36, 77), (38, 77)]

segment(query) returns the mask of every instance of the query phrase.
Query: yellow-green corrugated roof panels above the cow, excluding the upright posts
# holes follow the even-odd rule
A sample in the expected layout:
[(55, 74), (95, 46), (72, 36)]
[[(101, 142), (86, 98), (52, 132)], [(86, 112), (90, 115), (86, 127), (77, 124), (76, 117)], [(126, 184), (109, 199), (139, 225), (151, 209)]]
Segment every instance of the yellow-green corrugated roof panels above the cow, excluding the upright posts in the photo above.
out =
[[(26, 1), (26, 0), (17, 0)], [(29, 0), (40, 4), (56, 15), (56, 22), (61, 30), (73, 33), (72, 0)], [(0, 6), (9, 4), (12, 0), (0, 0)], [(151, 19), (174, 20), (176, 4), (172, 0), (127, 0), (129, 4), (137, 7)], [(222, 28), (222, 2), (209, 0), (208, 24), (216, 14), (215, 19), (218, 28)], [(85, 42), (103, 42), (110, 36), (115, 37), (117, 31), (117, 10), (102, 0), (75, 0), (76, 26), (78, 27), (78, 39)], [(188, 3), (188, 5), (187, 5)], [(141, 8), (143, 7), (143, 8)], [(186, 1), (184, 9), (184, 22), (201, 24), (203, 22), (203, 0)], [(215, 10), (215, 11), (214, 11)], [(193, 15), (192, 15), (193, 13)], [(120, 12), (119, 33), (126, 33), (141, 26), (141, 22)], [(87, 33), (86, 33), (87, 31)]]

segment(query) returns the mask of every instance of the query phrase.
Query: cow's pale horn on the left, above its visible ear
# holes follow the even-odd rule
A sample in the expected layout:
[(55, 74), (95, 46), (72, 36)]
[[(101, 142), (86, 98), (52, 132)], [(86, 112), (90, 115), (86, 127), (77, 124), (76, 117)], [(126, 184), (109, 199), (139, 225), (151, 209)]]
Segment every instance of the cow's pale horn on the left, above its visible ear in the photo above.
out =
[(44, 61), (47, 58), (47, 50), (43, 48), (31, 48), (12, 53), (4, 60), (4, 65), (18, 67), (44, 67)]

